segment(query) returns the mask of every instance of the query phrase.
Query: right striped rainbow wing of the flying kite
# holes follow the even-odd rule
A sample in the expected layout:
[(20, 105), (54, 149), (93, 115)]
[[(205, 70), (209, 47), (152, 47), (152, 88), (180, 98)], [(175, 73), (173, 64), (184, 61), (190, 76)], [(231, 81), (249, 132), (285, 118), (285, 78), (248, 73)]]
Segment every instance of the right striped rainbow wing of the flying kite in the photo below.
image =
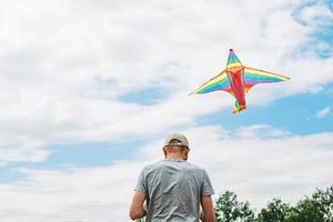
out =
[(244, 91), (245, 93), (258, 83), (272, 83), (289, 80), (290, 78), (268, 72), (260, 69), (244, 67)]

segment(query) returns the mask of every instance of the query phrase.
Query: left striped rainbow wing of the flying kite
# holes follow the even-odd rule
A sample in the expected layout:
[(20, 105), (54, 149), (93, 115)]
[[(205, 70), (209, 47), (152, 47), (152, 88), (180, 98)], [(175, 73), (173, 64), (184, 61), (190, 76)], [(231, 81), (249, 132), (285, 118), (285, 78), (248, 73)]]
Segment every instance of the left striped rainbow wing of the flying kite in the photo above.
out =
[(190, 95), (213, 92), (216, 90), (223, 90), (234, 95), (225, 70), (220, 72), (209, 81), (204, 82), (201, 87), (191, 92)]

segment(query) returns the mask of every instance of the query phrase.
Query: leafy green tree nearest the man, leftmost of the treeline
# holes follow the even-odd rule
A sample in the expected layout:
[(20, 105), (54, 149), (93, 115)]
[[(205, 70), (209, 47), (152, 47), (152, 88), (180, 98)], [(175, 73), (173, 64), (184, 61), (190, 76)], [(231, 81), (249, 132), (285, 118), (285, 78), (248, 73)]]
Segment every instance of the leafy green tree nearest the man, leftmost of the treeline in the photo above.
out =
[(254, 222), (254, 213), (250, 203), (238, 201), (234, 192), (226, 191), (220, 194), (214, 206), (216, 222)]

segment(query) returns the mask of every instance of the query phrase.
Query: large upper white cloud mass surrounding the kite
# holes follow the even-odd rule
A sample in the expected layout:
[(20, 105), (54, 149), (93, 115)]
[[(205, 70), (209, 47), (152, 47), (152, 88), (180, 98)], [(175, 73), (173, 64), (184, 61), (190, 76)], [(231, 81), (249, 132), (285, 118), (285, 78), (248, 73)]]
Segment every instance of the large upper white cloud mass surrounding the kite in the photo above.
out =
[[(291, 16), (297, 2), (290, 1), (261, 7), (246, 1), (1, 4), (0, 104), (6, 109), (0, 111), (0, 132), (9, 138), (39, 144), (117, 139), (162, 132), (192, 123), (200, 114), (231, 110), (229, 94), (184, 97), (223, 69), (231, 47), (244, 64), (292, 77), (285, 83), (255, 87), (249, 105), (321, 89), (333, 80), (332, 58), (293, 54), (314, 30), (306, 18), (331, 19), (326, 9), (319, 14), (322, 4), (300, 12), (306, 26)], [(326, 69), (314, 78), (317, 67)], [(117, 99), (152, 85), (167, 92), (157, 104)], [(33, 148), (17, 139), (9, 144)]]

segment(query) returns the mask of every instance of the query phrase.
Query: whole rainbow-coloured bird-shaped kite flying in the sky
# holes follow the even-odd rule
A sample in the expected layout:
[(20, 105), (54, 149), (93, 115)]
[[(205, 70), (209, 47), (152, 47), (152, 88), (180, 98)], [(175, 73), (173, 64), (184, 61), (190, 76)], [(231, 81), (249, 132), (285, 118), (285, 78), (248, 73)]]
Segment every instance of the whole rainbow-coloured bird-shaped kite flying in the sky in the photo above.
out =
[(226, 91), (236, 99), (232, 113), (239, 113), (246, 109), (245, 94), (254, 84), (281, 82), (289, 79), (287, 77), (264, 70), (244, 67), (235, 56), (233, 49), (230, 49), (226, 69), (204, 82), (201, 87), (191, 92), (190, 95), (216, 90)]

